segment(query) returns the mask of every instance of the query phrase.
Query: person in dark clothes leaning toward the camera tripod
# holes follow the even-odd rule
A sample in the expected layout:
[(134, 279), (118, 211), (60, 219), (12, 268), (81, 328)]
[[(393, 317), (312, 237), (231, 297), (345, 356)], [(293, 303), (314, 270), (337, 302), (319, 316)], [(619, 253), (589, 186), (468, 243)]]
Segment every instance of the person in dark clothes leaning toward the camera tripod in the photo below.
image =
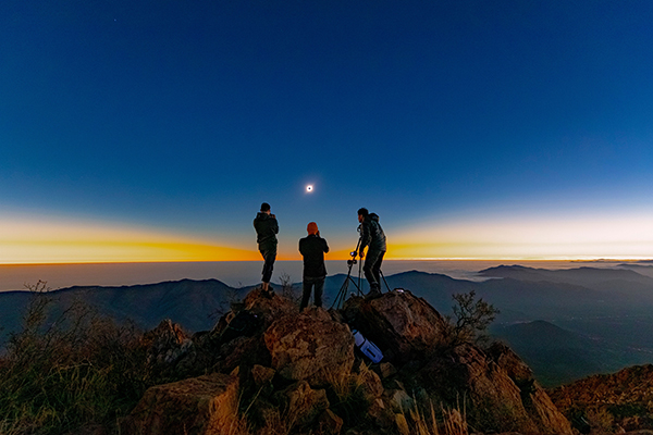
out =
[(360, 222), (360, 259), (365, 256), (365, 248), (369, 246), (362, 271), (370, 284), (368, 296), (381, 295), (381, 262), (385, 256), (385, 234), (379, 224), (379, 215), (369, 213), (367, 209), (358, 209), (358, 222)]

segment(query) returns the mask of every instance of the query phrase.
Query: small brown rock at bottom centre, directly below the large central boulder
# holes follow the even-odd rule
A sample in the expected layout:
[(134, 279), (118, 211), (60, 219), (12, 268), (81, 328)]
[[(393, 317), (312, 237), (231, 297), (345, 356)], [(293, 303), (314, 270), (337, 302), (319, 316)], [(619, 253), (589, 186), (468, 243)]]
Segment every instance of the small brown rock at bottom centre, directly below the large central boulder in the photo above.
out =
[(326, 391), (312, 389), (308, 382), (299, 381), (275, 395), (284, 409), (289, 426), (307, 426), (329, 408)]

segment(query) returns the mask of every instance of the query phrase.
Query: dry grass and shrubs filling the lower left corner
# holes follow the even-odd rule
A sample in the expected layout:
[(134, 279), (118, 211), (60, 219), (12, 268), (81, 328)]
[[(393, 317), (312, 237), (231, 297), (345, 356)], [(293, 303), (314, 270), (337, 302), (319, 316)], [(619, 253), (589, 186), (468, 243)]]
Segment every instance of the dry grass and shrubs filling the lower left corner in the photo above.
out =
[(151, 384), (140, 332), (81, 302), (57, 313), (46, 283), (28, 288), (23, 328), (0, 362), (0, 433), (115, 424)]

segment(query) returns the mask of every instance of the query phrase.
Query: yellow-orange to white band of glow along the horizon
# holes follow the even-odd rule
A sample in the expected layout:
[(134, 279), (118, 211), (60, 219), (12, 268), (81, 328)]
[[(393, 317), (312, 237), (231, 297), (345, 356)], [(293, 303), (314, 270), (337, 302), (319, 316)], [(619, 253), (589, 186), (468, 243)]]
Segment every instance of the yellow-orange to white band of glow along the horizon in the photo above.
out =
[[(643, 260), (653, 257), (649, 221), (649, 213), (640, 213), (422, 223), (386, 228), (385, 260)], [(261, 261), (256, 243), (248, 239), (246, 246), (252, 248), (116, 224), (0, 219), (0, 264)], [(347, 260), (350, 251), (333, 244), (325, 259)], [(276, 259), (301, 260), (296, 243), (281, 236)]]

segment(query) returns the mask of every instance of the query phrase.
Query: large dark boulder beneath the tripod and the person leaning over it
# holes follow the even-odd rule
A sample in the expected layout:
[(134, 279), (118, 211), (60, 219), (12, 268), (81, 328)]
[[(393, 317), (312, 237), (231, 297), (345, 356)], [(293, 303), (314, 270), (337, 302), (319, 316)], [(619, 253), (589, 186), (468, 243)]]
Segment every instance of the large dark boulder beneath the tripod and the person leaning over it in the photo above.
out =
[(349, 298), (344, 316), (384, 352), (406, 363), (431, 353), (443, 340), (445, 321), (424, 299), (410, 291), (389, 291), (367, 300)]

